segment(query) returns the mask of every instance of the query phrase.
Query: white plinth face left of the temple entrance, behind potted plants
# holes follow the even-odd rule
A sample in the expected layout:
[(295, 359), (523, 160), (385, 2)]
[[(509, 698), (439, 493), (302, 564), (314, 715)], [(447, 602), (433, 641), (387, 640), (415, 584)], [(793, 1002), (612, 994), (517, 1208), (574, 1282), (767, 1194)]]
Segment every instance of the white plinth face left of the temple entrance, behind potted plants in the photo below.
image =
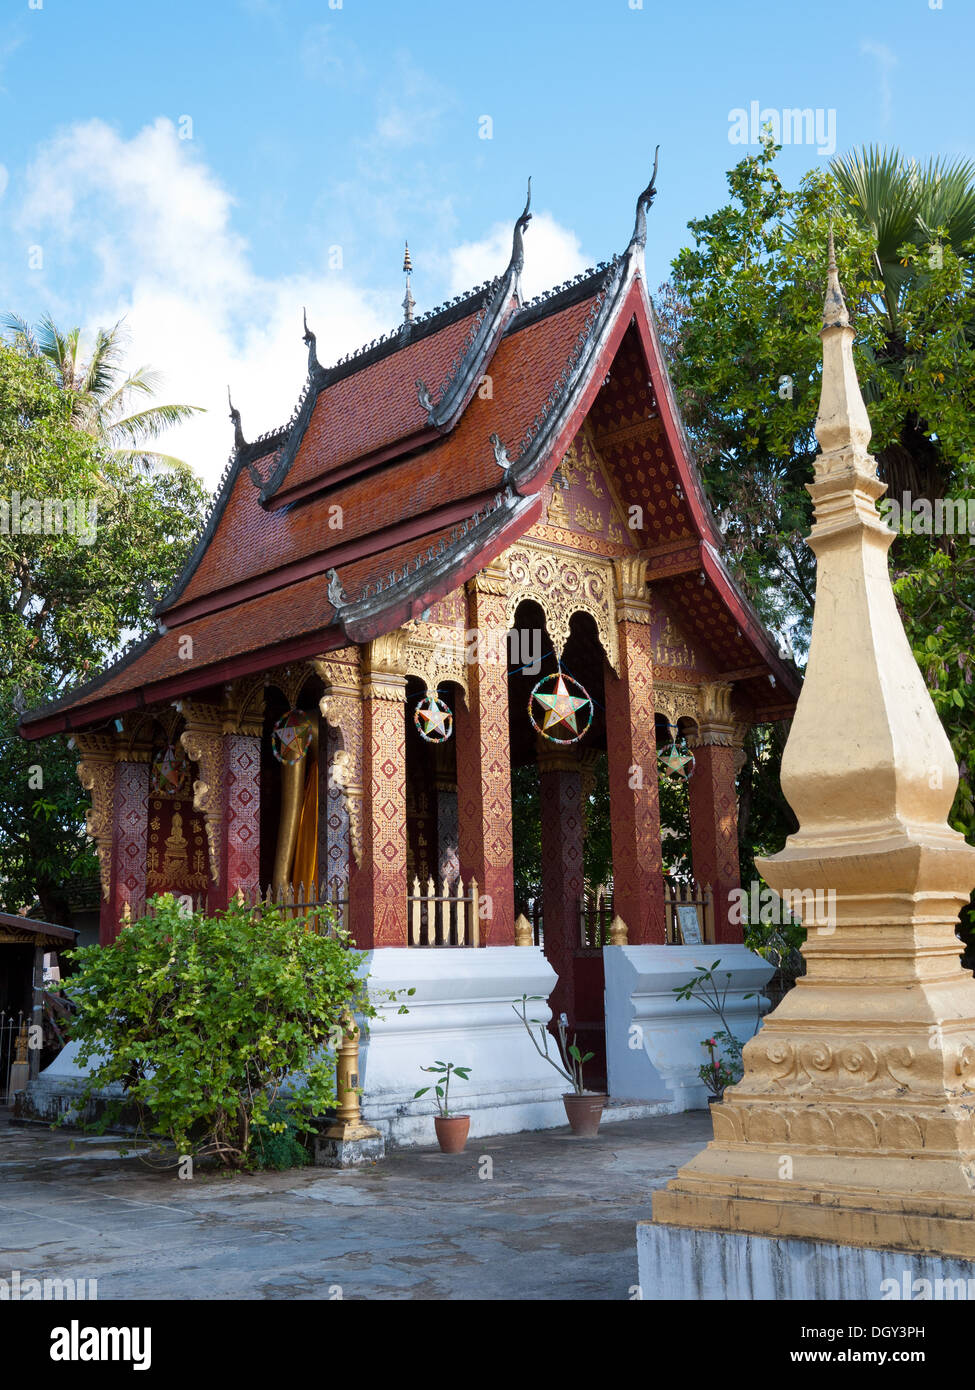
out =
[[(469, 1081), (451, 1084), (451, 1109), (470, 1115), (470, 1137), (554, 1129), (566, 1123), (559, 1073), (538, 1056), (512, 1002), (529, 1004), (529, 1017), (548, 1023), (544, 1002), (556, 974), (538, 947), (481, 949), (417, 949), (382, 947), (363, 962), (369, 988), (380, 1005), (359, 1048), (362, 1112), (391, 1144), (434, 1144), (435, 1102), (431, 1094), (413, 1099), (434, 1077), (421, 1072), (431, 1062), (470, 1068)], [(387, 990), (413, 987), (398, 1005), (382, 1005)], [(549, 1047), (555, 1045), (549, 1038)]]

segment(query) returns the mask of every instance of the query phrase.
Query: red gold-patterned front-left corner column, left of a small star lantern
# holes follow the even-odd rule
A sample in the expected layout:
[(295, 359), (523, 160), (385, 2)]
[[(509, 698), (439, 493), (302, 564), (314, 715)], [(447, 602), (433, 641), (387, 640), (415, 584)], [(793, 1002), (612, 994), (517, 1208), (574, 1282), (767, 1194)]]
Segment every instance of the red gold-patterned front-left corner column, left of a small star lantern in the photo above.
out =
[(367, 664), (362, 692), (363, 844), (362, 862), (352, 866), (349, 877), (352, 935), (360, 951), (409, 944), (406, 677), (389, 669), (391, 664), (389, 657), (378, 667)]

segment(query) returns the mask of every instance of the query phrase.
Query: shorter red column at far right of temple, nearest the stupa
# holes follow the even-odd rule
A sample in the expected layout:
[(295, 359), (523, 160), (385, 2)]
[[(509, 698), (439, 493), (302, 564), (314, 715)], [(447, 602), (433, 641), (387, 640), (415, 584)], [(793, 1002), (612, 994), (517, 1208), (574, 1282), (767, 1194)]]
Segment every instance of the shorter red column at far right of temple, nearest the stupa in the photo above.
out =
[[(707, 687), (705, 687), (707, 689)], [(729, 895), (741, 887), (739, 867), (739, 801), (734, 785), (739, 748), (725, 724), (700, 724), (690, 780), (691, 865), (701, 887), (711, 884), (715, 940), (741, 941), (743, 929), (730, 920)]]

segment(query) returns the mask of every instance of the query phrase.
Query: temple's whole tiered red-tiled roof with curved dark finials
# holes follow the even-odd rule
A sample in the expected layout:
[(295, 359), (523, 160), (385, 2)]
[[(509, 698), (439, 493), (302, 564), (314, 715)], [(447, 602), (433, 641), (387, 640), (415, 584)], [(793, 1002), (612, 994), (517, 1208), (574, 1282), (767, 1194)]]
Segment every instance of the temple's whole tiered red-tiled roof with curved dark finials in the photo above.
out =
[[(306, 325), (309, 373), (288, 425), (248, 443), (232, 411), (235, 450), (157, 605), (160, 631), (26, 714), (24, 734), (102, 723), (419, 617), (538, 520), (587, 416), (634, 500), (648, 502), (638, 541), (651, 577), (676, 596), (693, 581), (688, 617), (707, 612), (708, 642), (725, 642), (759, 713), (787, 712), (796, 673), (723, 567), (654, 327), (643, 274), (652, 197), (651, 179), (623, 256), (530, 303), (526, 203), (495, 281), (328, 368)], [(663, 461), (643, 448), (654, 416)]]

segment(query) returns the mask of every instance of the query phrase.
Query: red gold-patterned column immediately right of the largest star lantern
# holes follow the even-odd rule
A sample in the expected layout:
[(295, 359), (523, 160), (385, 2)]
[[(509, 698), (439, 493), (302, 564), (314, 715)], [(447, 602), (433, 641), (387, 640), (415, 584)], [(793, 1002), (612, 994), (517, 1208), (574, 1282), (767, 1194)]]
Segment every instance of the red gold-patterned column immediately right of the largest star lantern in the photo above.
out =
[(654, 645), (643, 562), (618, 566), (619, 676), (606, 670), (613, 912), (630, 945), (665, 941)]

